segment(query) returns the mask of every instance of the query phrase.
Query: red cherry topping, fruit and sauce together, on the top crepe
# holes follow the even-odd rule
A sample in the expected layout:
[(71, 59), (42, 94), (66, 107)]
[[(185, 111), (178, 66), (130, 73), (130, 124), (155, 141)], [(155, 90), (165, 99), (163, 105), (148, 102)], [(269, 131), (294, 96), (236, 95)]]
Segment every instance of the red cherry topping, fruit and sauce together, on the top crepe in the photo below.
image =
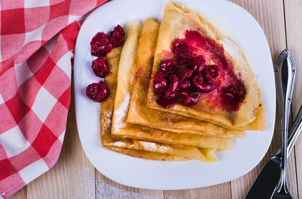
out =
[[(175, 103), (171, 99), (180, 97), (183, 104), (189, 107), (201, 100), (206, 101), (212, 109), (238, 110), (246, 91), (242, 81), (235, 75), (231, 61), (224, 56), (222, 46), (202, 32), (186, 31), (184, 35), (184, 39), (175, 39), (172, 45), (172, 52), (180, 68), (173, 67), (171, 70), (161, 65), (159, 72), (162, 73), (156, 75), (157, 79), (167, 79), (168, 74), (172, 73), (178, 80), (171, 80), (169, 76), (169, 88), (160, 93), (158, 104), (168, 108)], [(167, 51), (163, 54), (166, 55), (165, 59), (174, 57)]]

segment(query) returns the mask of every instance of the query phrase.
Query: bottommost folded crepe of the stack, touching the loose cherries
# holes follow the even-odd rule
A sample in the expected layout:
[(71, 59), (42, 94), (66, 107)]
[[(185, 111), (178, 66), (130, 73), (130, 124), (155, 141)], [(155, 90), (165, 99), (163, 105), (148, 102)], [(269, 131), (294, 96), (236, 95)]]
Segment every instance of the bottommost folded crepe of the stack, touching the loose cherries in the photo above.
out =
[[(129, 39), (127, 41), (132, 38), (132, 28), (134, 27), (130, 27)], [(125, 46), (127, 46), (127, 41)], [(121, 50), (122, 47), (114, 48), (106, 56), (110, 74), (105, 77), (105, 83), (110, 89), (110, 94), (108, 99), (102, 102), (100, 110), (102, 146), (119, 153), (144, 159), (184, 161), (192, 158), (206, 162), (217, 161), (214, 155), (215, 150), (213, 149), (200, 149), (179, 144), (159, 144), (156, 142), (118, 138), (110, 134)]]

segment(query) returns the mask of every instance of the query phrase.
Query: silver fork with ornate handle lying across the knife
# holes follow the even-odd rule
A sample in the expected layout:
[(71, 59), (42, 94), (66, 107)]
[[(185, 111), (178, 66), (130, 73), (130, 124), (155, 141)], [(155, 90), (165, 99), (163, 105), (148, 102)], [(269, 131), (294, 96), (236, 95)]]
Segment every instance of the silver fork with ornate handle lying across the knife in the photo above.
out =
[(292, 199), (286, 184), (286, 163), (287, 163), (287, 134), (288, 118), (291, 103), (291, 96), (295, 80), (295, 64), (288, 50), (284, 50), (278, 58), (275, 66), (275, 80), (278, 95), (278, 104), (281, 116), (281, 165), (280, 179), (275, 188), (272, 198)]

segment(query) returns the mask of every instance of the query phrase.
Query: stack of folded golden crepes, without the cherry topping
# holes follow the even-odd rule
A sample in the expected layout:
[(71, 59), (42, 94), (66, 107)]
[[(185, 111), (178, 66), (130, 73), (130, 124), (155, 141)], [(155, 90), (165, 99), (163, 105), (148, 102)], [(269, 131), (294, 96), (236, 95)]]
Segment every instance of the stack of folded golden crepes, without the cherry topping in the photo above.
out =
[[(154, 75), (163, 60), (173, 58), (171, 45), (186, 30), (223, 47), (246, 89), (238, 110), (213, 109), (204, 98), (194, 107), (157, 104)], [(243, 130), (264, 130), (265, 108), (255, 77), (242, 51), (223, 35), (218, 26), (175, 2), (167, 3), (161, 25), (152, 19), (132, 21), (124, 46), (106, 56), (110, 96), (101, 104), (103, 147), (145, 159), (215, 162), (215, 150), (233, 150), (233, 139), (244, 138)]]

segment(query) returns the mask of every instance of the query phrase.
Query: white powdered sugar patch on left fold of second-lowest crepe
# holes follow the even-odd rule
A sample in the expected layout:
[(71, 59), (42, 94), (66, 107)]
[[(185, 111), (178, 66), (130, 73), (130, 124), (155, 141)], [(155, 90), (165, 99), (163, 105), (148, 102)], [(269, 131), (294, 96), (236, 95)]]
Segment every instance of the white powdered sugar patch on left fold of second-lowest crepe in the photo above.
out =
[(113, 128), (116, 130), (116, 132), (119, 132), (119, 129), (125, 127), (126, 125), (125, 122), (128, 113), (129, 103), (130, 94), (126, 93), (124, 101), (121, 103), (120, 107), (118, 107), (118, 109), (116, 109), (116, 111), (114, 112), (115, 121)]

